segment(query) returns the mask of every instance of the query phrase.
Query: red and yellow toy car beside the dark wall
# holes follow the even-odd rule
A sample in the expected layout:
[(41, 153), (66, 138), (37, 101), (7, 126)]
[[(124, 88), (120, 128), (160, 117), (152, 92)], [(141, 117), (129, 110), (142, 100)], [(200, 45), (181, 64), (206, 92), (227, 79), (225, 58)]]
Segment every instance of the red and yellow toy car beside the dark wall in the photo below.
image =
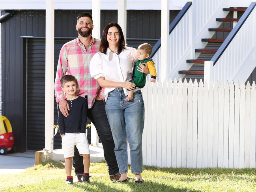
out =
[(0, 116), (0, 155), (5, 155), (7, 151), (15, 152), (14, 136), (10, 121)]

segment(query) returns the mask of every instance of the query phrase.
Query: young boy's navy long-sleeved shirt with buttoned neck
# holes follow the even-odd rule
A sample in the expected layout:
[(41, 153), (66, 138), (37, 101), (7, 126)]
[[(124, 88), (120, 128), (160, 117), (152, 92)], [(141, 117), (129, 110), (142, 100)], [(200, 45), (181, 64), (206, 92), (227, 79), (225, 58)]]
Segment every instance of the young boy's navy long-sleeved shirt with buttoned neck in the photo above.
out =
[(85, 133), (86, 123), (87, 123), (87, 100), (83, 97), (77, 97), (77, 99), (67, 100), (69, 104), (69, 115), (67, 117), (63, 116), (60, 112), (59, 104), (58, 108), (58, 125), (60, 134), (65, 133)]

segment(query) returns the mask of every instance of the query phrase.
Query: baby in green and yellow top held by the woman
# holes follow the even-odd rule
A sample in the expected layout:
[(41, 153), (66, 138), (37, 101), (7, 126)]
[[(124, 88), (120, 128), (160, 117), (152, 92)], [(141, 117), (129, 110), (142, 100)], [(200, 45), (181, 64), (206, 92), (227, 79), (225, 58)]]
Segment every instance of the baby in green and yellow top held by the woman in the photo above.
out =
[[(131, 80), (132, 83), (136, 84), (138, 88), (144, 88), (146, 84), (146, 76), (147, 74), (141, 73), (137, 70), (137, 67), (140, 66), (140, 63), (146, 63), (148, 65), (149, 72), (151, 74), (150, 82), (155, 82), (157, 77), (157, 71), (155, 69), (155, 63), (152, 59), (149, 58), (152, 52), (152, 47), (148, 43), (143, 43), (138, 47), (137, 54), (138, 54), (138, 61), (135, 64), (133, 69), (133, 79)], [(133, 90), (128, 91), (128, 96), (124, 99), (125, 101), (130, 101), (133, 99)]]

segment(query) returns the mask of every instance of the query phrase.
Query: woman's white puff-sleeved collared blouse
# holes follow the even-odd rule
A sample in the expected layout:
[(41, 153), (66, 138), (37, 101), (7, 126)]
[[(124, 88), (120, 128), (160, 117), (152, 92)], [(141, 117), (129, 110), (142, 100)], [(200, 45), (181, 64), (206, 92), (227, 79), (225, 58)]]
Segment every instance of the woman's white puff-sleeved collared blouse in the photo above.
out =
[[(114, 82), (125, 82), (131, 79), (133, 67), (137, 62), (137, 50), (132, 47), (125, 47), (120, 54), (113, 53), (109, 48), (107, 54), (97, 52), (90, 62), (90, 73), (95, 79), (105, 77), (106, 80)], [(115, 88), (105, 88), (105, 99), (108, 93)], [(139, 90), (136, 88), (135, 91)], [(125, 95), (127, 89), (123, 88)]]

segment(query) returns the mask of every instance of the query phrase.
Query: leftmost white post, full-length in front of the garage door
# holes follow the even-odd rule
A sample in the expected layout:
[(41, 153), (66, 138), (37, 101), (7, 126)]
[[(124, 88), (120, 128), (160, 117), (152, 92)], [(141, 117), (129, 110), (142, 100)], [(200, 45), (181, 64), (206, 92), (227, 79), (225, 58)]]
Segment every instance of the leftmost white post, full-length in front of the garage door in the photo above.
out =
[(45, 148), (53, 150), (54, 0), (45, 9)]

